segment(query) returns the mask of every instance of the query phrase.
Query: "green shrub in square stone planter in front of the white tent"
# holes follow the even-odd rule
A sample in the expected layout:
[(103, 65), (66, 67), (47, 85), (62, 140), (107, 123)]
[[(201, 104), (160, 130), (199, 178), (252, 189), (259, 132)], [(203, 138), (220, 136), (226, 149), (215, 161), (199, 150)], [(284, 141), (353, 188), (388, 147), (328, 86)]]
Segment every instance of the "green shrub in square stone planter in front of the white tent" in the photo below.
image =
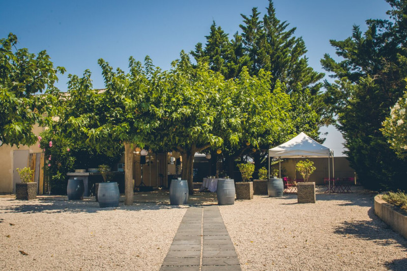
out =
[(296, 169), (300, 172), (305, 182), (297, 183), (298, 203), (315, 203), (315, 183), (309, 183), (309, 176), (316, 169), (314, 162), (308, 159), (299, 161), (296, 164)]

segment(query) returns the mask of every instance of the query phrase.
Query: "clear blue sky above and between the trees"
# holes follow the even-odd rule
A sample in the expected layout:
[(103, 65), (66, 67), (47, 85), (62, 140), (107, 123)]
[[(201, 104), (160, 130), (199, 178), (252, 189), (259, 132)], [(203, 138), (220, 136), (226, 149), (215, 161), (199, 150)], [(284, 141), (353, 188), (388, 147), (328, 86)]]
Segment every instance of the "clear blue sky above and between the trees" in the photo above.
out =
[[(99, 58), (127, 70), (129, 56), (142, 61), (150, 55), (156, 66), (168, 69), (182, 49), (189, 52), (197, 42), (205, 43), (213, 20), (231, 37), (240, 32), (241, 13), (250, 15), (257, 7), (264, 14), (268, 6), (267, 0), (0, 1), (0, 38), (12, 32), (18, 48), (46, 49), (67, 74), (90, 69), (95, 88), (104, 87)], [(366, 19), (387, 18), (390, 8), (384, 0), (275, 0), (274, 6), (280, 20), (297, 27), (310, 66), (321, 72), (324, 53), (335, 54), (330, 39), (347, 38), (353, 24), (365, 29)], [(57, 83), (61, 91), (67, 88), (67, 74)], [(324, 145), (340, 155), (340, 133), (323, 130), (329, 132)]]

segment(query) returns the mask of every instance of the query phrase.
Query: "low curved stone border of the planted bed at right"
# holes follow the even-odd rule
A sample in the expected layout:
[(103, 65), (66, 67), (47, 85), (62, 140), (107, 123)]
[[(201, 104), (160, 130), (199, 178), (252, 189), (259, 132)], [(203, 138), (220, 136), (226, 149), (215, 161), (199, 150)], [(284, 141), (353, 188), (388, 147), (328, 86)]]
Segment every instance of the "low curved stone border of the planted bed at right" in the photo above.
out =
[(374, 197), (374, 214), (407, 238), (407, 212), (384, 201), (381, 194)]

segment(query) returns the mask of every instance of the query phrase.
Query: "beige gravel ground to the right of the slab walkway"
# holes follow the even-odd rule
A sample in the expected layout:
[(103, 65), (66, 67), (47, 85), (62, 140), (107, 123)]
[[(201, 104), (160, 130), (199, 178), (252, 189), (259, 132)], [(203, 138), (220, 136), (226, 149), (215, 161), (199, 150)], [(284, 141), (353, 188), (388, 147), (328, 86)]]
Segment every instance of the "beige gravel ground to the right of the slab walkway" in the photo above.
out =
[(407, 240), (374, 215), (373, 198), (254, 196), (219, 209), (242, 270), (407, 270)]

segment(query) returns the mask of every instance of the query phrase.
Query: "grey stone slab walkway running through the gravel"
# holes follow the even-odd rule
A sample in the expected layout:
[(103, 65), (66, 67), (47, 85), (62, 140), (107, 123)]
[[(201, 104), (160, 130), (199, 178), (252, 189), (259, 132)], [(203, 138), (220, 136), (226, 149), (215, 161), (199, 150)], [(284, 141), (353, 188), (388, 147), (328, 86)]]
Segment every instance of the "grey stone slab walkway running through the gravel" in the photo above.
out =
[(188, 208), (160, 270), (241, 270), (218, 206)]

